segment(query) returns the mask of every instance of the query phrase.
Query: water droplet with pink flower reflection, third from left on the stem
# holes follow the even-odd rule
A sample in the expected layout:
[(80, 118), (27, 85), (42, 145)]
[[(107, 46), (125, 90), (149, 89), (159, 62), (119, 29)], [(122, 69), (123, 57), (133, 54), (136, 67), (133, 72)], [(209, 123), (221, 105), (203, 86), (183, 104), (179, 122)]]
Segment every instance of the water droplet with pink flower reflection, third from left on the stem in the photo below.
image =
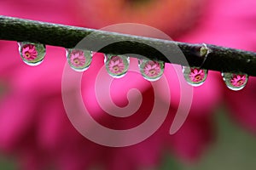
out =
[(124, 77), (130, 64), (129, 57), (105, 54), (104, 63), (108, 74), (114, 78)]

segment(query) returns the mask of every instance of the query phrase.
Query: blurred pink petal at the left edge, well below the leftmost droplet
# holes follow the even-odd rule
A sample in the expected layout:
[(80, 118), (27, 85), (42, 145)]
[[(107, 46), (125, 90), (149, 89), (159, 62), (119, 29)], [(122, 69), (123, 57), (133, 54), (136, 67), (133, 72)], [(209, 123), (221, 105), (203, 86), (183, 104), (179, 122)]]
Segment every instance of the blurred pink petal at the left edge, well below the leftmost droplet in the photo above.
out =
[(32, 110), (37, 103), (32, 97), (23, 97), (26, 94), (14, 92), (9, 94), (0, 103), (0, 148), (15, 151), (22, 143), (27, 131), (30, 130), (34, 117)]

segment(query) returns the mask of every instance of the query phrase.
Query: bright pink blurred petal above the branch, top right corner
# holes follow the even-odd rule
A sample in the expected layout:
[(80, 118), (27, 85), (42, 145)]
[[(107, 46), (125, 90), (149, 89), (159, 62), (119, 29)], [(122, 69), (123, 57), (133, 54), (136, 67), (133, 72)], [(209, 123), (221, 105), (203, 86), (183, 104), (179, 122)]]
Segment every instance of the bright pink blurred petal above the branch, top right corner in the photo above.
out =
[(201, 16), (201, 22), (198, 22), (189, 34), (179, 37), (178, 40), (255, 51), (255, 5), (256, 1), (253, 0), (209, 1)]

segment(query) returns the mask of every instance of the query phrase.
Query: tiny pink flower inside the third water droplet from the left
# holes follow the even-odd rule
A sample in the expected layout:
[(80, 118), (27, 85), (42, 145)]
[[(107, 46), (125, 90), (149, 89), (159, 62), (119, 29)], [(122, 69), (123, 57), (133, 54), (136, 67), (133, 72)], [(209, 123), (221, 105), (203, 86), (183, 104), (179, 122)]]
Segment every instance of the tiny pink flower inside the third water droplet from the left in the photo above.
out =
[(109, 61), (109, 71), (113, 74), (120, 74), (125, 70), (123, 59), (119, 56), (113, 56)]

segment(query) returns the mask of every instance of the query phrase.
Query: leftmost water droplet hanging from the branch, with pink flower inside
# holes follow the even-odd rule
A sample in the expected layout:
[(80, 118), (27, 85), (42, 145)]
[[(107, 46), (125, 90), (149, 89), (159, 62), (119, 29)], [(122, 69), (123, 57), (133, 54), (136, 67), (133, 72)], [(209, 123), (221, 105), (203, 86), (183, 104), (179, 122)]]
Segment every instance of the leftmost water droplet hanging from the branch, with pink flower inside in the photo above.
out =
[(27, 65), (39, 65), (45, 56), (45, 45), (32, 42), (18, 42), (21, 59)]

